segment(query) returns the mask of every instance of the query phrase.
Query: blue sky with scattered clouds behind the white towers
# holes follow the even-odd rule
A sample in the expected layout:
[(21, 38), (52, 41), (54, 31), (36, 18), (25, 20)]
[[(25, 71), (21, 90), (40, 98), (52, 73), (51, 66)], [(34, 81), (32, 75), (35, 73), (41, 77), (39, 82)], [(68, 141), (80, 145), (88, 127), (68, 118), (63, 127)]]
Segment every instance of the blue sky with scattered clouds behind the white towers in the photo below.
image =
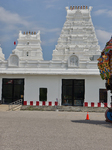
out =
[(112, 36), (112, 0), (0, 0), (0, 45), (7, 60), (16, 48), (19, 31), (40, 30), (44, 60), (51, 60), (67, 6), (92, 6), (92, 22), (103, 50)]

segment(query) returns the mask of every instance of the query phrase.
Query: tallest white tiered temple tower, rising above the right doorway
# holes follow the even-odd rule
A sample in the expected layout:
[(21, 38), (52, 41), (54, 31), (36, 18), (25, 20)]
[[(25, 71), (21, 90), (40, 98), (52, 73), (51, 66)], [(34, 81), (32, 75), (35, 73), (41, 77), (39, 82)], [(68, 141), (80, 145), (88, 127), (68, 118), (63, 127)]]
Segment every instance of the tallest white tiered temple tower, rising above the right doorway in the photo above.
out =
[(91, 20), (92, 7), (66, 7), (67, 16), (52, 60), (68, 60), (74, 54), (80, 62), (96, 60), (100, 46)]

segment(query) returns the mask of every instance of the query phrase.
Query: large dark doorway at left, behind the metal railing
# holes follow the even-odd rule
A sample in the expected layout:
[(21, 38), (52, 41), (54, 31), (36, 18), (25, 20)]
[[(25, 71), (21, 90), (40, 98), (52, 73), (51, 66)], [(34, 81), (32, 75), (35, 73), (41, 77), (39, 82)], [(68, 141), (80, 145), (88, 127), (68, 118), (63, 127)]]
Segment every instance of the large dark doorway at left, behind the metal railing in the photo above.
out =
[(2, 103), (24, 100), (24, 79), (2, 79)]

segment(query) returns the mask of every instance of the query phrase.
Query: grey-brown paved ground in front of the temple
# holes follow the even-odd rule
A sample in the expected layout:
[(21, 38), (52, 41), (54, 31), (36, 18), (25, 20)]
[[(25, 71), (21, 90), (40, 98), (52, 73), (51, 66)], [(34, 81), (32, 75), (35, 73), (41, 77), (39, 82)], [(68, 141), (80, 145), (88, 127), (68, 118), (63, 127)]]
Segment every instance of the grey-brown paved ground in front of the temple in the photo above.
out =
[(111, 150), (104, 113), (0, 112), (0, 150)]

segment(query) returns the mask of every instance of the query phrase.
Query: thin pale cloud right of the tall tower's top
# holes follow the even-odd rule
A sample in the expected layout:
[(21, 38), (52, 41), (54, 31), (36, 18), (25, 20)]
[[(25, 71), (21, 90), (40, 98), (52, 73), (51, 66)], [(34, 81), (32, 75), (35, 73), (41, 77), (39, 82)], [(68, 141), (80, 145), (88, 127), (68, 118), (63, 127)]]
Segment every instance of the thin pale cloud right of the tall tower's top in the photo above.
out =
[(112, 17), (112, 10), (108, 9), (99, 9), (94, 12), (94, 15), (99, 16), (99, 15), (107, 15), (108, 17)]

